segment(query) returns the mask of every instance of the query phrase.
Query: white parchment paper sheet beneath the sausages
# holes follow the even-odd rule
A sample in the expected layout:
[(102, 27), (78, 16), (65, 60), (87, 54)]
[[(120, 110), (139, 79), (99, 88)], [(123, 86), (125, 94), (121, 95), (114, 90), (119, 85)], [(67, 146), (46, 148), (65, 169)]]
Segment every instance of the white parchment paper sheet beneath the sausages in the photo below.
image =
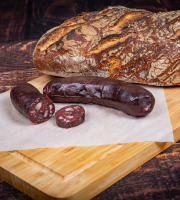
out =
[[(55, 116), (34, 125), (13, 107), (9, 93), (0, 94), (0, 151), (48, 147), (89, 146), (130, 142), (174, 142), (162, 88), (146, 87), (156, 99), (153, 111), (135, 118), (119, 110), (86, 105), (85, 122), (63, 129)], [(56, 111), (69, 104), (55, 104)]]

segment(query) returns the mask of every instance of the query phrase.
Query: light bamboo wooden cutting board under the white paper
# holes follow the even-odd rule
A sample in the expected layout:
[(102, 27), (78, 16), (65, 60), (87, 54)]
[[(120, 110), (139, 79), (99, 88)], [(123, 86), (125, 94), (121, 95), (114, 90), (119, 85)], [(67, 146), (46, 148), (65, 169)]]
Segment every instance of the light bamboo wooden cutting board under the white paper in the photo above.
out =
[[(31, 83), (42, 88), (51, 79), (43, 75)], [(180, 87), (164, 92), (177, 142)], [(0, 152), (0, 177), (37, 200), (90, 199), (170, 145), (141, 142)]]

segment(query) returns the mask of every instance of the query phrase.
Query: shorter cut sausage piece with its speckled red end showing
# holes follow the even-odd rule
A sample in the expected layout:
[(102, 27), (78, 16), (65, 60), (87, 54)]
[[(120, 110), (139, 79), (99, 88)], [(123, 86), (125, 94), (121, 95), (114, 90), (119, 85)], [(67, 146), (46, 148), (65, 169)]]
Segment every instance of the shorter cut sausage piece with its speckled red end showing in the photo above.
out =
[(10, 98), (14, 107), (35, 124), (47, 121), (55, 112), (52, 100), (29, 83), (14, 87)]

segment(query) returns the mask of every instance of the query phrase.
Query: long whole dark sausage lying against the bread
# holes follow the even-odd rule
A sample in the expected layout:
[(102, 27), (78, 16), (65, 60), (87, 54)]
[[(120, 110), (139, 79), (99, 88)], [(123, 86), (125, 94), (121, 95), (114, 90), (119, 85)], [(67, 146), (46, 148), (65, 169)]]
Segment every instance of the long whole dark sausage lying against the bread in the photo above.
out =
[(56, 103), (94, 103), (142, 117), (154, 107), (154, 96), (145, 88), (110, 78), (74, 76), (56, 78), (43, 88)]

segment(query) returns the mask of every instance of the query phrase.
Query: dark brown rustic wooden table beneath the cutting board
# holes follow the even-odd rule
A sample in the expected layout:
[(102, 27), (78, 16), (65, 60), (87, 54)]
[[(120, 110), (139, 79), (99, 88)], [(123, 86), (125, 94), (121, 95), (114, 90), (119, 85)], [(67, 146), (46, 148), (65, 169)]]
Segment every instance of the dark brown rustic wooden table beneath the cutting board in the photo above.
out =
[[(32, 62), (40, 36), (67, 18), (109, 5), (152, 11), (180, 9), (179, 0), (1, 0), (0, 93), (41, 75)], [(0, 179), (0, 199), (30, 200)], [(180, 141), (99, 194), (94, 200), (179, 200)]]

